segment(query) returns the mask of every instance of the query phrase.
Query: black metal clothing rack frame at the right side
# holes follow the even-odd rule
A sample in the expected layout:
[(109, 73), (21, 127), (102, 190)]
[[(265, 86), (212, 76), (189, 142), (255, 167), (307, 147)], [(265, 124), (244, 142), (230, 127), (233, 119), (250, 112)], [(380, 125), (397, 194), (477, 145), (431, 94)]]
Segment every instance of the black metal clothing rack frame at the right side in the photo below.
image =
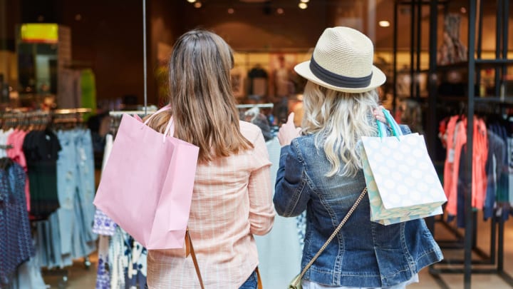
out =
[[(426, 128), (427, 135), (427, 148), (434, 148), (436, 141), (436, 128), (437, 125), (435, 123), (437, 111), (437, 72), (443, 71), (446, 69), (468, 69), (468, 79), (467, 79), (467, 151), (472, 151), (472, 139), (473, 139), (473, 126), (474, 126), (474, 112), (475, 112), (475, 102), (480, 103), (499, 103), (504, 106), (513, 106), (513, 101), (504, 100), (499, 97), (500, 93), (500, 84), (501, 77), (507, 72), (507, 65), (513, 64), (513, 60), (507, 59), (507, 50), (508, 50), (508, 17), (509, 17), (509, 2), (508, 0), (497, 0), (497, 30), (496, 30), (496, 51), (495, 51), (495, 59), (481, 59), (482, 54), (482, 1), (481, 0), (479, 6), (479, 20), (477, 21), (477, 0), (468, 0), (468, 61), (462, 64), (448, 65), (448, 66), (438, 66), (437, 65), (437, 16), (438, 16), (438, 8), (442, 4), (447, 4), (447, 1), (444, 0), (409, 0), (403, 1), (398, 0), (395, 1), (394, 4), (394, 37), (393, 37), (393, 79), (394, 83), (397, 80), (397, 60), (396, 54), (398, 51), (397, 44), (397, 34), (398, 34), (398, 6), (400, 5), (410, 5), (411, 7), (411, 41), (410, 41), (410, 61), (412, 66), (410, 66), (410, 73), (412, 83), (410, 86), (410, 93), (412, 98), (419, 98), (420, 93), (418, 89), (418, 83), (416, 82), (417, 78), (415, 78), (415, 73), (420, 73), (420, 16), (421, 9), (424, 5), (430, 6), (430, 31), (429, 31), (429, 69), (428, 73), (428, 116), (427, 123), (430, 125)], [(417, 16), (415, 16), (415, 11), (417, 12)], [(477, 47), (476, 47), (476, 24), (477, 24)], [(415, 41), (415, 29), (417, 33), (417, 38)], [(414, 58), (416, 54), (417, 59)], [(477, 57), (475, 57), (477, 56)], [(415, 69), (414, 69), (415, 66)], [(495, 69), (495, 97), (487, 97), (487, 98), (476, 98), (475, 95), (475, 83), (480, 83), (480, 70), (482, 67), (492, 67)], [(477, 74), (476, 74), (477, 72)], [(476, 77), (476, 79), (474, 79)], [(414, 86), (416, 89), (414, 89)], [(393, 88), (393, 105), (395, 108), (396, 101), (396, 91), (395, 86)], [(464, 100), (465, 98), (462, 98)], [(466, 188), (467, 192), (465, 192), (468, 196), (471, 196), (472, 192), (472, 154), (467, 156), (465, 160), (466, 168), (465, 168), (465, 178), (467, 180)], [(441, 273), (462, 273), (464, 274), (464, 287), (470, 288), (471, 285), (471, 274), (497, 274), (500, 278), (504, 280), (504, 282), (508, 283), (513, 287), (513, 278), (504, 272), (504, 220), (496, 217), (492, 217), (491, 223), (491, 240), (490, 240), (490, 248), (489, 254), (485, 253), (480, 248), (477, 248), (477, 213), (472, 211), (472, 198), (465, 198), (465, 233), (461, 235), (457, 230), (452, 228), (449, 224), (447, 224), (444, 220), (440, 219), (437, 222), (442, 223), (448, 228), (453, 235), (455, 235), (456, 240), (437, 240), (440, 244), (440, 247), (451, 250), (451, 249), (464, 249), (464, 258), (461, 260), (453, 260), (448, 259), (444, 260), (440, 263), (450, 264), (450, 265), (462, 265), (462, 268), (435, 268), (438, 265), (430, 266), (430, 274), (435, 278), (435, 281), (440, 288), (449, 288), (447, 283), (445, 283), (442, 278), (440, 278)], [(434, 225), (435, 218), (428, 218), (427, 225), (430, 230), (434, 233)], [(497, 247), (496, 247), (497, 246)], [(475, 253), (480, 257), (480, 260), (472, 260), (472, 253)], [(497, 256), (497, 258), (496, 258)], [(472, 265), (492, 265), (492, 268), (473, 268)]]

